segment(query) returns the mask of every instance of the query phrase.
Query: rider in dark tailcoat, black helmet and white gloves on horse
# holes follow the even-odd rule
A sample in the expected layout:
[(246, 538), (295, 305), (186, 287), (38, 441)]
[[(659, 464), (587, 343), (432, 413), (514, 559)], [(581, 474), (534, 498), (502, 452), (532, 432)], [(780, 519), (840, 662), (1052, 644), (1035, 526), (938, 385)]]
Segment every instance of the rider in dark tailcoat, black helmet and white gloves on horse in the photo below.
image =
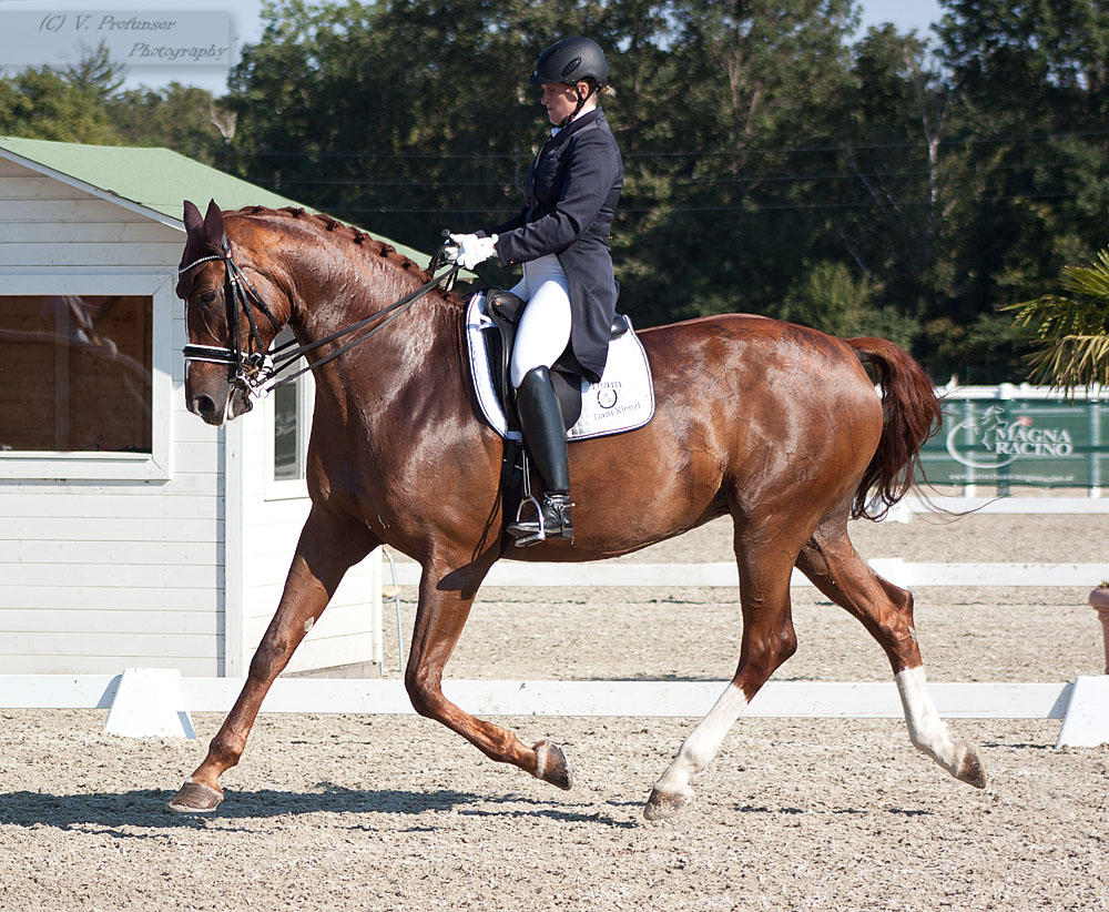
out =
[(525, 205), (503, 224), (451, 234), (465, 268), (497, 256), (523, 264), (511, 290), (527, 301), (512, 351), (511, 382), (528, 452), (543, 482), (546, 536), (535, 520), (511, 523), (517, 545), (573, 539), (570, 469), (550, 367), (569, 346), (582, 376), (597, 383), (608, 357), (617, 284), (609, 231), (623, 184), (620, 150), (598, 108), (609, 68), (597, 42), (567, 38), (545, 50), (531, 73), (554, 124), (523, 179)]

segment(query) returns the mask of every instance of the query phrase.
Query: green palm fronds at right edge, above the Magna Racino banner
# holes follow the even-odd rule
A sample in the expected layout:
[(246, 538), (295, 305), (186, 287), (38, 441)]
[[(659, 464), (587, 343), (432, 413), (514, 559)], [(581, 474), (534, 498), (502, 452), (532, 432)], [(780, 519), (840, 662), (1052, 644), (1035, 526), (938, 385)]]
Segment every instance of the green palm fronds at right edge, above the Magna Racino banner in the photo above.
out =
[(1088, 267), (1064, 266), (1059, 284), (1072, 296), (1046, 294), (1005, 308), (1038, 344), (1029, 376), (1069, 393), (1109, 387), (1109, 249)]

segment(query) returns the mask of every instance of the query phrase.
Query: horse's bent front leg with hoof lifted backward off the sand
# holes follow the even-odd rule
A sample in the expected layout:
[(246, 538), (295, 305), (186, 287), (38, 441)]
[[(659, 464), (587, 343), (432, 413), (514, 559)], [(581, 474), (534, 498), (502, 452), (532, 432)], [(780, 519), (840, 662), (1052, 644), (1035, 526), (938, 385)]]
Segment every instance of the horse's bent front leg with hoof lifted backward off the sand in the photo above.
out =
[(539, 741), (529, 748), (513, 732), (464, 712), (442, 696), (444, 666), (458, 642), (474, 596), (494, 557), (479, 557), (452, 571), (436, 564), (425, 566), (405, 687), (420, 716), (442, 722), (498, 762), (513, 763), (537, 779), (569, 789), (570, 771), (558, 747)]

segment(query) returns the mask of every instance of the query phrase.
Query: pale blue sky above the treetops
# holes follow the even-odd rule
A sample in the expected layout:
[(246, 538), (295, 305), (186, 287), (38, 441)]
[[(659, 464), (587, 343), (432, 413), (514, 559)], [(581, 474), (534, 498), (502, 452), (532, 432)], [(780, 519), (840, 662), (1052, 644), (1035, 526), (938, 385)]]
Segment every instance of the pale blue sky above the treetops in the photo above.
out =
[[(135, 23), (129, 22), (129, 19), (164, 17), (166, 13), (159, 11), (183, 10), (190, 6), (183, 0), (145, 0), (142, 3), (136, 3), (134, 0), (130, 2), (129, 0), (116, 0), (116, 2), (0, 0), (0, 68), (7, 68), (7, 72), (11, 72), (18, 54), (33, 55), (37, 52), (29, 50), (31, 48), (42, 48), (44, 50), (38, 52), (52, 58), (69, 58), (74, 54), (80, 57), (82, 39), (72, 34), (80, 28), (84, 30), (84, 34), (91, 33), (95, 38), (108, 34), (114, 42), (112, 50), (118, 59), (134, 58), (144, 61), (138, 65), (129, 65), (126, 88), (136, 88), (139, 84), (160, 88), (176, 80), (222, 94), (226, 91), (228, 62), (234, 63), (237, 59), (236, 49), (244, 43), (257, 41), (262, 34), (260, 19), (262, 0), (193, 0), (193, 2), (199, 2), (200, 11), (172, 13), (181, 19), (180, 22), (173, 20), (176, 22), (174, 28), (179, 29), (173, 39), (176, 47), (191, 51), (200, 49), (200, 52), (194, 51), (196, 62), (181, 65), (165, 61), (154, 64), (145, 62), (151, 58), (156, 60), (159, 49), (169, 44), (157, 43), (156, 31), (153, 32), (153, 37), (150, 33), (135, 33)], [(940, 17), (938, 0), (862, 0), (859, 6), (863, 13), (863, 31), (881, 22), (893, 22), (899, 31), (915, 29), (922, 37), (928, 37), (928, 27)], [(203, 10), (210, 10), (214, 14), (207, 14)], [(82, 11), (87, 14), (92, 13), (92, 17), (85, 20), (77, 19), (75, 17)], [(106, 11), (113, 12), (113, 21), (110, 23), (105, 22), (102, 16)], [(14, 16), (17, 13), (18, 17)], [(230, 13), (230, 29), (227, 13)], [(65, 18), (61, 19), (62, 16)], [(98, 24), (102, 31), (93, 28)], [(197, 36), (203, 37), (197, 38)], [(170, 41), (170, 39), (163, 40)], [(58, 48), (65, 50), (57, 50)], [(224, 49), (227, 49), (225, 53)], [(205, 53), (210, 58), (218, 59), (220, 64), (206, 63)], [(30, 62), (20, 60), (23, 64)], [(69, 60), (51, 59), (35, 62), (65, 65)]]

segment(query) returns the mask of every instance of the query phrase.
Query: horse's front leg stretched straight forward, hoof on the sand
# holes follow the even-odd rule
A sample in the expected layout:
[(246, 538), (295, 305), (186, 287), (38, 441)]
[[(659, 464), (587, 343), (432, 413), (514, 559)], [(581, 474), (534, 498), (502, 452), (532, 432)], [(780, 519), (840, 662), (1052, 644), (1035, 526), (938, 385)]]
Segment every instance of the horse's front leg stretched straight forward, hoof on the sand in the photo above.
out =
[(174, 796), (170, 810), (203, 813), (223, 801), (220, 777), (243, 756), (274, 679), (324, 612), (344, 574), (378, 544), (365, 526), (313, 507), (301, 530), (277, 612), (251, 660), (246, 683), (212, 739), (204, 762)]

